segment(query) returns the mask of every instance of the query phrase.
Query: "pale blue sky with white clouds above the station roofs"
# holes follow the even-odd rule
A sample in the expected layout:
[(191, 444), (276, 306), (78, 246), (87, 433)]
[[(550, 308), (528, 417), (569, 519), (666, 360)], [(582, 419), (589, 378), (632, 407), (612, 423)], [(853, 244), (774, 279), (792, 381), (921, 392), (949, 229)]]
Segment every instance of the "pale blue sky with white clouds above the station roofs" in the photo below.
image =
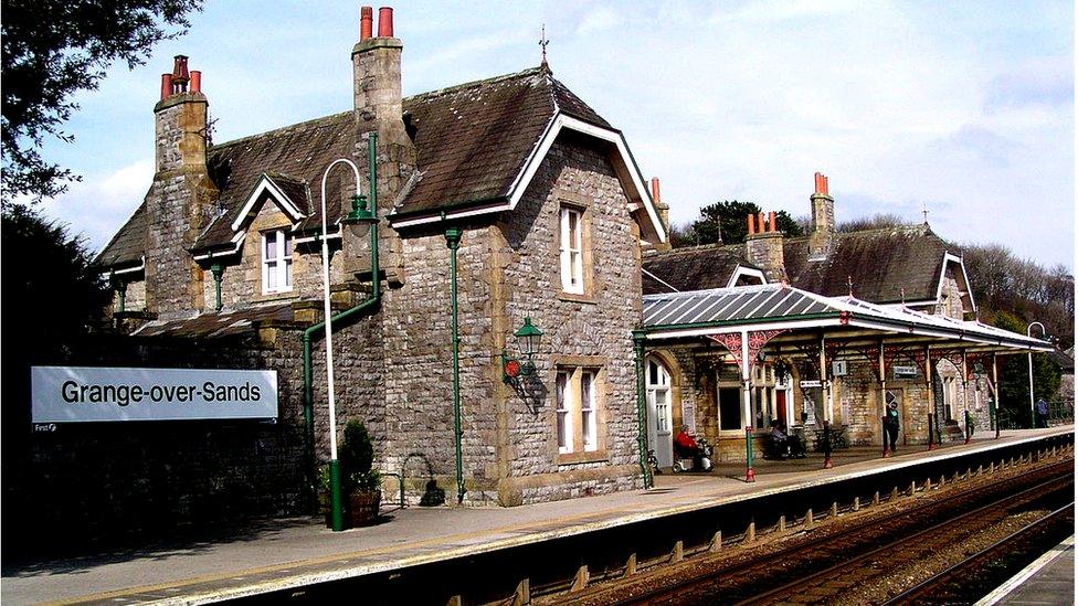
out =
[[(219, 142), (351, 108), (359, 2), (211, 0), (191, 21), (45, 146), (84, 177), (45, 212), (94, 251), (150, 184), (172, 55), (202, 71)], [(807, 215), (820, 171), (839, 222), (927, 210), (949, 242), (1074, 272), (1069, 1), (412, 0), (394, 23), (405, 95), (536, 66), (545, 25), (554, 77), (624, 132), (675, 223), (722, 200)]]

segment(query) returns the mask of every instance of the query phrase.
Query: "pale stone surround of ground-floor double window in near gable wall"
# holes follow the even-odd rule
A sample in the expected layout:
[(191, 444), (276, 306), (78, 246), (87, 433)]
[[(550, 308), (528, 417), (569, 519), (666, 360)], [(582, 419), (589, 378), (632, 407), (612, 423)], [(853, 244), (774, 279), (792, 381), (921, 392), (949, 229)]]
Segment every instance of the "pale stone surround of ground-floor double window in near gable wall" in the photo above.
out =
[[(558, 374), (569, 373), (568, 393), (572, 394), (568, 402), (566, 413), (572, 432), (572, 447), (561, 453), (558, 448), (558, 402), (557, 387), (551, 391), (552, 400), (550, 410), (550, 444), (554, 463), (557, 465), (572, 465), (579, 463), (595, 463), (607, 460), (606, 455), (606, 397), (609, 395), (609, 384), (606, 381), (607, 360), (602, 355), (554, 355), (551, 360), (551, 384), (557, 385)], [(583, 446), (583, 433), (581, 427), (581, 378), (585, 372), (592, 373), (592, 397), (594, 398), (594, 425), (595, 440), (594, 447), (585, 450)]]

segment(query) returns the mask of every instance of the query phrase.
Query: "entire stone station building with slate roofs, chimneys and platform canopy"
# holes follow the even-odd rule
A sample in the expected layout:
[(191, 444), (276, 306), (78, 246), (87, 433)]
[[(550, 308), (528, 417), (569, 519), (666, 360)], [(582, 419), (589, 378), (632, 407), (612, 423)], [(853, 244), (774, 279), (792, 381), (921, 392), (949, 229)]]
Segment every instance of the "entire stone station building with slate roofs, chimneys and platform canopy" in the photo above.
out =
[(276, 415), (62, 426), (11, 479), (24, 508), (102, 528), (309, 512), (330, 443), (324, 244), (338, 433), (362, 421), (411, 502), (431, 482), (506, 507), (641, 488), (683, 422), (727, 459), (771, 418), (878, 443), (891, 400), (903, 444), (930, 417), (987, 427), (992, 353), (1045, 347), (975, 321), (927, 225), (836, 234), (822, 178), (807, 237), (749, 217), (744, 245), (670, 251), (625, 137), (546, 63), (404, 97), (392, 11), (373, 21), (350, 109), (228, 142), (208, 136), (228, 75), (176, 57), (154, 180), (96, 261), (113, 331), (56, 361), (270, 370)]

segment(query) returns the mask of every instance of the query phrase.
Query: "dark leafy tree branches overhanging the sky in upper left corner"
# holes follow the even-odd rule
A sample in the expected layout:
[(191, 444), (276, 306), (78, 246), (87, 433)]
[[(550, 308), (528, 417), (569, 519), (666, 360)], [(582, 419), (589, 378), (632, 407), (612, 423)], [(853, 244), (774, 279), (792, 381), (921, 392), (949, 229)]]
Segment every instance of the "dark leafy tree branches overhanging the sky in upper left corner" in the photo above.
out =
[[(146, 62), (154, 44), (190, 25), (202, 0), (3, 0), (2, 202), (63, 193), (78, 176), (41, 157), (46, 136), (78, 108), (72, 96), (94, 91), (116, 61)], [(176, 31), (170, 31), (178, 28)]]

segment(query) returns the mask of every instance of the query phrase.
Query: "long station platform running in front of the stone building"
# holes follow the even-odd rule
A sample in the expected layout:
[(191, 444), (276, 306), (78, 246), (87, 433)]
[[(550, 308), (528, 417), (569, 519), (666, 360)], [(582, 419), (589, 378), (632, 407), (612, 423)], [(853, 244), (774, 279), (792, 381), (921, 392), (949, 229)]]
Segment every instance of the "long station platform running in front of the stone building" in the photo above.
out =
[(1074, 434), (1072, 425), (1003, 432), (1000, 438), (979, 436), (968, 445), (932, 450), (910, 446), (889, 458), (878, 448), (849, 448), (834, 453), (831, 469), (823, 468), (820, 454), (758, 459), (752, 483), (744, 481), (743, 463), (725, 464), (711, 474), (656, 476), (651, 490), (515, 508), (383, 508), (382, 523), (346, 532), (331, 532), (315, 518), (270, 520), (200, 540), (4, 562), (0, 599), (6, 605), (216, 602), (582, 534), (1066, 434)]

